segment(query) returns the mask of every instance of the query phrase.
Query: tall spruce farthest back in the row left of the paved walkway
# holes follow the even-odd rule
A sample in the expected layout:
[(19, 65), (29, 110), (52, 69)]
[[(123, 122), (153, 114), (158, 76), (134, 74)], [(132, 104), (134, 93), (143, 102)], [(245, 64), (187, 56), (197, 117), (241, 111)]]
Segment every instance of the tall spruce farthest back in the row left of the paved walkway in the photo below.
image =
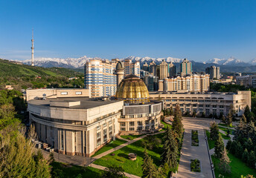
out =
[(183, 125), (182, 125), (182, 111), (179, 108), (179, 105), (176, 105), (173, 117), (173, 131), (177, 133), (179, 139), (182, 138)]

